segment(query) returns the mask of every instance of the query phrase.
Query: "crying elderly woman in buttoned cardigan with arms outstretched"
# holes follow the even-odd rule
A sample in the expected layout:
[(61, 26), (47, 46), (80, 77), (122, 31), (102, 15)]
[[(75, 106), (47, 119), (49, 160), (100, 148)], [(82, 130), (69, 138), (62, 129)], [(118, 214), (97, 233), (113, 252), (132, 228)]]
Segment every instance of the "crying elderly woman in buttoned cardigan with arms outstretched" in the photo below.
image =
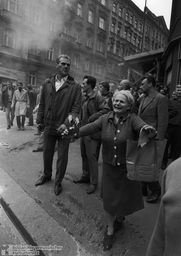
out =
[[(153, 138), (156, 130), (130, 114), (134, 99), (129, 91), (118, 91), (113, 95), (113, 109), (93, 123), (80, 128), (79, 136), (94, 134), (102, 130), (103, 173), (101, 198), (107, 217), (104, 235), (104, 249), (112, 247), (112, 238), (122, 225), (125, 215), (144, 208), (141, 182), (127, 178), (126, 149), (127, 139), (138, 140), (141, 128)], [(64, 131), (67, 134), (67, 131)], [(62, 134), (62, 135), (64, 135)]]

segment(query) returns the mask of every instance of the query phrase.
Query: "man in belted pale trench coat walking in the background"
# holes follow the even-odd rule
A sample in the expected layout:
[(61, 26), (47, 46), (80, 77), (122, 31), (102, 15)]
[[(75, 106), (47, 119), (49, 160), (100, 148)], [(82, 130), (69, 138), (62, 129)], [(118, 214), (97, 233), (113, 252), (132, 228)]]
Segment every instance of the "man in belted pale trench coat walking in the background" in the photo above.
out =
[(26, 111), (30, 106), (29, 97), (27, 91), (22, 89), (23, 84), (18, 83), (18, 90), (14, 92), (11, 109), (15, 106), (15, 115), (18, 129), (17, 131), (24, 131), (24, 122), (26, 117)]

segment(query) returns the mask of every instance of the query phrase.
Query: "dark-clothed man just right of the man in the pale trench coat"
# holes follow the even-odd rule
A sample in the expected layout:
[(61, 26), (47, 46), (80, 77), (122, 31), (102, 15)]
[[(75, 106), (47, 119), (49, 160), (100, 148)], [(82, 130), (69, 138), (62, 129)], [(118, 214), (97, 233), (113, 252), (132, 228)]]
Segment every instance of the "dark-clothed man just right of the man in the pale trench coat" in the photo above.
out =
[(34, 110), (35, 105), (37, 103), (37, 94), (33, 90), (33, 86), (31, 84), (28, 84), (27, 88), (28, 88), (28, 97), (29, 97), (29, 101), (30, 101), (29, 123), (27, 124), (27, 126), (33, 126), (34, 125), (34, 122), (33, 122), (33, 110)]

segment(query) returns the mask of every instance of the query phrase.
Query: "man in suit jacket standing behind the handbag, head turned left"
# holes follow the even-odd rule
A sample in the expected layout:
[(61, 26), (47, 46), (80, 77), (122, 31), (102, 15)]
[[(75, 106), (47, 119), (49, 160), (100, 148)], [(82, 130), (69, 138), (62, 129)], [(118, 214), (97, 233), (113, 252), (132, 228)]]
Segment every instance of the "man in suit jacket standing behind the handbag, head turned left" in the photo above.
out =
[[(143, 79), (141, 89), (144, 95), (138, 99), (138, 117), (145, 123), (154, 126), (157, 130), (157, 139), (162, 139), (165, 136), (168, 126), (168, 99), (156, 91), (155, 84), (153, 76), (146, 76)], [(144, 196), (147, 195), (147, 186), (152, 191), (152, 194), (146, 201), (147, 203), (154, 203), (161, 195), (159, 181), (150, 183), (142, 182)]]

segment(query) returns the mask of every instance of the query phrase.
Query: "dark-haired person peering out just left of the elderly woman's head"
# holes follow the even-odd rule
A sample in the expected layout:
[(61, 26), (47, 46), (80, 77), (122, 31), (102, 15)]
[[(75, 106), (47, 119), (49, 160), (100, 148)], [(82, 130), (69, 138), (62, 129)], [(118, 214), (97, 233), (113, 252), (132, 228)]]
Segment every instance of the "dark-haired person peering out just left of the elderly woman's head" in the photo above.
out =
[(107, 81), (102, 81), (101, 83), (99, 83), (99, 92), (101, 93), (101, 96), (103, 96), (106, 100), (106, 103), (110, 108), (110, 111), (112, 111), (112, 93), (109, 91), (109, 89), (110, 86)]

